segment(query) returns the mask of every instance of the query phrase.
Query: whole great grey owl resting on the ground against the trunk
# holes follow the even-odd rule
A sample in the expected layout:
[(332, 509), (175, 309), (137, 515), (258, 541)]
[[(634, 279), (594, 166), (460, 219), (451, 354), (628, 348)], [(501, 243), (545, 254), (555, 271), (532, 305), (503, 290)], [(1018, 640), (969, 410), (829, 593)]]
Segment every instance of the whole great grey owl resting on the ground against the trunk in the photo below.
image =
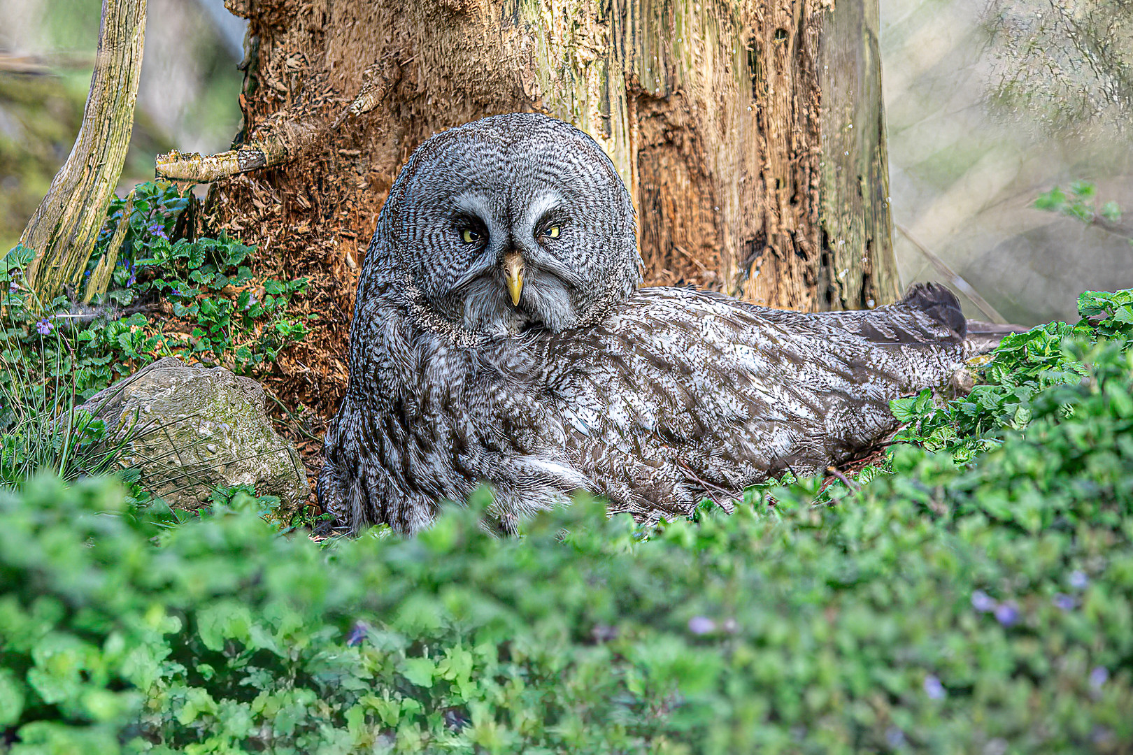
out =
[(323, 507), (415, 532), (487, 482), (502, 532), (577, 490), (685, 514), (851, 456), (964, 358), (943, 286), (806, 315), (639, 289), (639, 266), (629, 192), (582, 131), (512, 114), (425, 141), (358, 282)]

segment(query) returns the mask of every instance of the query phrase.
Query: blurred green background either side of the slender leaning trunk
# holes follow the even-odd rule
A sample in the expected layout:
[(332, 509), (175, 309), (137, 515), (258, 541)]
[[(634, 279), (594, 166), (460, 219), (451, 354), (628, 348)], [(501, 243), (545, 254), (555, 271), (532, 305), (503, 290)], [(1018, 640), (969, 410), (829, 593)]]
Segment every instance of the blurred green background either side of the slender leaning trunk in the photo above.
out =
[[(8, 6), (20, 22), (20, 36), (9, 46), (28, 53), (37, 70), (0, 70), (0, 249), (19, 240), (78, 134), (102, 0)], [(177, 44), (163, 45), (165, 40)], [(150, 5), (139, 105), (122, 172), (127, 186), (153, 175), (157, 153), (174, 146), (227, 148), (240, 125), (238, 58), (198, 3)]]

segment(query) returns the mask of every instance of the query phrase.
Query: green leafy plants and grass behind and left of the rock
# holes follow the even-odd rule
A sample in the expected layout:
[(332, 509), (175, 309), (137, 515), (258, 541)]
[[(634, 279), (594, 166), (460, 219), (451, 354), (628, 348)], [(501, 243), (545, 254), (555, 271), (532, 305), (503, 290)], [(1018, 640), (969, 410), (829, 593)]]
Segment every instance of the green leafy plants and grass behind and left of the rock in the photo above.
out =
[[(257, 271), (255, 247), (224, 235), (188, 238), (189, 204), (167, 183), (114, 199), (83, 284), (50, 302), (24, 277), (31, 249), (0, 259), (0, 487), (18, 488), (37, 469), (65, 479), (116, 469), (126, 441), (108, 447), (114, 434), (75, 407), (156, 359), (261, 376), (305, 337), (306, 318), (289, 307), (306, 281)], [(108, 292), (79, 303), (108, 254)]]

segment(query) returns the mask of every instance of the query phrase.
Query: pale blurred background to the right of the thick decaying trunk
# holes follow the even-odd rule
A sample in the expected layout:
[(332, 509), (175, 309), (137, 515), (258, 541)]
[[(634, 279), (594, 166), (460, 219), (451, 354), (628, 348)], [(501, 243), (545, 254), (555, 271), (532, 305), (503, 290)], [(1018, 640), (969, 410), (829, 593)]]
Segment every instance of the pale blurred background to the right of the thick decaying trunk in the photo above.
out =
[(1034, 206), (1084, 180), (1133, 214), (1133, 2), (881, 0), (881, 59), (906, 285), (939, 277), (910, 237), (1015, 323), (1133, 285), (1127, 239)]

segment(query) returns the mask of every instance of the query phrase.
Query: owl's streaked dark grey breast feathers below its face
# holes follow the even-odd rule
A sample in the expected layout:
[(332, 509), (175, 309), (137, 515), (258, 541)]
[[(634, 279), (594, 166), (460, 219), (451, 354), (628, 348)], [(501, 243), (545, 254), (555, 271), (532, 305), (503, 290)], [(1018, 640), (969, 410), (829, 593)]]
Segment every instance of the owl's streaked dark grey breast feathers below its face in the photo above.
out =
[(356, 309), (350, 385), (326, 435), (324, 508), (358, 530), (427, 526), (445, 500), (491, 483), (501, 531), (594, 487), (565, 455), (530, 376), (529, 340), (476, 340), (395, 290)]

